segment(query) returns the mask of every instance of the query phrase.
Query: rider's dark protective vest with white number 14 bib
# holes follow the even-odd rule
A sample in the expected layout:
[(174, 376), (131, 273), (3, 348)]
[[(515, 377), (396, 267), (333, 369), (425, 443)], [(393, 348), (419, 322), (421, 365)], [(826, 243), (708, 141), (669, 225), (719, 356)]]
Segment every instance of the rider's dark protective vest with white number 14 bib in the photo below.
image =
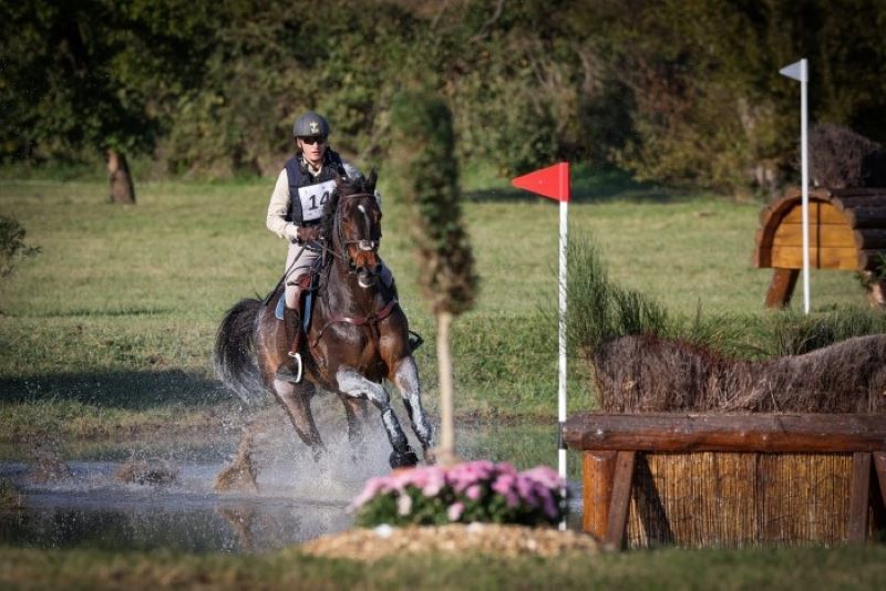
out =
[(341, 156), (328, 149), (320, 175), (313, 177), (299, 154), (286, 163), (289, 179), (289, 208), (286, 220), (297, 226), (312, 225), (323, 215), (323, 207), (336, 190), (336, 174), (347, 176)]

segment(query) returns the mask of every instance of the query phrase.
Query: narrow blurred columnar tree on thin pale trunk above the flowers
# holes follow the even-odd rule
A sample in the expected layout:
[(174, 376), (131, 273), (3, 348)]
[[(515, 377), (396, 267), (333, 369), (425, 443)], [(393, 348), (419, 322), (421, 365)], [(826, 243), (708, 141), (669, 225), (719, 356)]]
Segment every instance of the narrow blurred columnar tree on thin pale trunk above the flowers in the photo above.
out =
[(437, 458), (455, 462), (452, 403), (452, 319), (474, 302), (474, 257), (462, 226), (452, 113), (431, 93), (404, 91), (391, 106), (391, 167), (396, 196), (409, 209), (420, 282), (436, 317), (441, 440)]

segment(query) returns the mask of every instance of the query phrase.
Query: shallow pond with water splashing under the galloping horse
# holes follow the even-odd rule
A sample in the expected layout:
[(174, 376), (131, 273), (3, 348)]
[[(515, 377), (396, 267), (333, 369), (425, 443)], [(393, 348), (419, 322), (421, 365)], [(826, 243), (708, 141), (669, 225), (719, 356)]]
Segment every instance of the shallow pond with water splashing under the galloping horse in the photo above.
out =
[[(270, 425), (255, 437), (257, 494), (213, 489), (215, 476), (237, 449), (238, 431), (62, 445), (49, 459), (45, 453), (4, 447), (0, 483), (12, 500), (0, 508), (0, 543), (241, 553), (342, 531), (352, 525), (348, 505), (365, 480), (390, 471), (390, 447), (381, 428), (375, 434), (357, 462), (342, 438), (328, 440), (328, 457), (315, 464), (287, 425)], [(519, 469), (556, 467), (555, 425), (462, 424), (456, 440), (464, 459), (506, 460)], [(570, 455), (570, 474), (578, 471), (575, 458)], [(126, 476), (133, 460), (159, 466), (166, 477), (134, 481)], [(55, 463), (58, 469), (42, 466), (41, 471), (41, 462), (50, 468)], [(580, 528), (577, 486), (570, 478), (574, 529)]]

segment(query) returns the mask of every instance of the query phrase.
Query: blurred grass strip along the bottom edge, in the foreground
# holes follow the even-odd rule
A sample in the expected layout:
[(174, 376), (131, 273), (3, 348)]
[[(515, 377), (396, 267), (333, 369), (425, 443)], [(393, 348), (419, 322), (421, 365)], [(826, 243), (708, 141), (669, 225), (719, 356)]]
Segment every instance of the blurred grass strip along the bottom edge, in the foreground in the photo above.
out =
[(658, 550), (549, 559), (402, 556), (359, 563), (297, 550), (225, 557), (0, 549), (0, 585), (71, 589), (876, 589), (886, 548)]

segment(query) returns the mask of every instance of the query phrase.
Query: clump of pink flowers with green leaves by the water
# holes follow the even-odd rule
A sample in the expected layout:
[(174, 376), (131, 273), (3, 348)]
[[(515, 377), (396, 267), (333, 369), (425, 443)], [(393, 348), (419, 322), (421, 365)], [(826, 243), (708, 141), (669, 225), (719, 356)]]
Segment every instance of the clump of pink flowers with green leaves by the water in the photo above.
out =
[(565, 484), (556, 471), (526, 471), (507, 463), (467, 462), (427, 466), (370, 478), (351, 504), (357, 525), (557, 523), (564, 516)]

